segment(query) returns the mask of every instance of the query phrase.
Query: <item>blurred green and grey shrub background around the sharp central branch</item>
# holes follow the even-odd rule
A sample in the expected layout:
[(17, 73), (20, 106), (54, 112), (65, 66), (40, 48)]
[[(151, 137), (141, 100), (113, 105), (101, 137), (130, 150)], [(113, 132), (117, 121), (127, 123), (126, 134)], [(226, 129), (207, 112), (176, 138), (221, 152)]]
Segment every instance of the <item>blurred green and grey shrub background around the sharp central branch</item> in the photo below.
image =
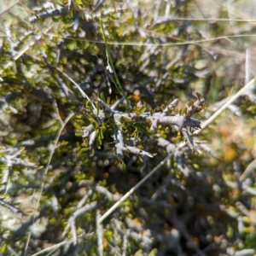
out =
[(256, 255), (254, 84), (195, 138), (198, 154), (176, 149), (99, 230), (183, 137), (158, 127), (165, 146), (138, 141), (154, 158), (120, 165), (111, 128), (83, 143), (91, 106), (72, 82), (121, 97), (102, 20), (127, 106), (178, 98), (179, 113), (199, 92), (207, 120), (255, 76), (255, 12), (252, 0), (1, 1), (0, 254)]

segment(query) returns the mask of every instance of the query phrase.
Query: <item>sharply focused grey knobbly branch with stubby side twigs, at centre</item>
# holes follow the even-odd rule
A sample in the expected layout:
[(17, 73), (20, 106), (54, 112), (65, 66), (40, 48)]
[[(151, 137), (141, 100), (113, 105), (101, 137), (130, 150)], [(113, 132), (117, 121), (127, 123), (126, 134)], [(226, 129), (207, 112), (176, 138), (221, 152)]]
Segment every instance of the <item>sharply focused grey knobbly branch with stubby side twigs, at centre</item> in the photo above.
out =
[[(179, 130), (182, 131), (183, 137), (185, 138), (185, 141), (188, 144), (191, 151), (193, 153), (196, 152), (197, 150), (193, 143), (193, 139), (189, 136), (189, 132), (187, 130), (187, 126), (193, 127), (195, 129), (201, 128), (201, 121), (191, 118), (192, 114), (201, 111), (205, 102), (204, 98), (202, 98), (200, 94), (197, 94), (196, 96), (197, 100), (195, 102), (189, 103), (189, 109), (187, 113), (184, 113), (183, 115), (167, 115), (172, 110), (172, 108), (175, 108), (177, 106), (177, 99), (172, 101), (164, 109), (163, 112), (157, 113), (124, 113), (118, 110), (114, 110), (115, 108), (117, 108), (120, 102), (123, 102), (125, 100), (125, 96), (123, 96), (119, 101), (115, 102), (112, 106), (108, 106), (108, 104), (103, 102), (98, 97), (93, 98), (93, 100), (99, 102), (101, 107), (106, 109), (106, 111), (110, 113), (109, 115), (105, 115), (103, 110), (100, 110), (97, 118), (99, 125), (102, 125), (102, 123), (105, 122), (107, 119), (114, 119), (116, 127), (114, 129), (113, 137), (115, 141), (116, 154), (119, 159), (123, 159), (123, 153), (125, 151), (140, 156), (154, 156), (153, 154), (150, 154), (145, 150), (125, 145), (124, 132), (121, 127), (123, 127), (124, 125), (129, 125), (129, 123), (143, 124), (145, 126), (147, 126), (148, 123), (151, 123), (151, 126), (149, 128), (150, 131), (156, 130), (158, 125), (176, 125), (179, 128)], [(141, 108), (138, 106), (137, 111), (139, 112), (142, 108), (143, 106)], [(90, 124), (87, 127), (84, 127), (82, 131), (83, 138), (90, 138), (90, 146), (92, 145), (92, 143), (94, 143), (97, 137), (97, 133), (94, 131), (94, 129), (94, 125)], [(147, 129), (147, 127), (145, 127), (145, 129)]]

